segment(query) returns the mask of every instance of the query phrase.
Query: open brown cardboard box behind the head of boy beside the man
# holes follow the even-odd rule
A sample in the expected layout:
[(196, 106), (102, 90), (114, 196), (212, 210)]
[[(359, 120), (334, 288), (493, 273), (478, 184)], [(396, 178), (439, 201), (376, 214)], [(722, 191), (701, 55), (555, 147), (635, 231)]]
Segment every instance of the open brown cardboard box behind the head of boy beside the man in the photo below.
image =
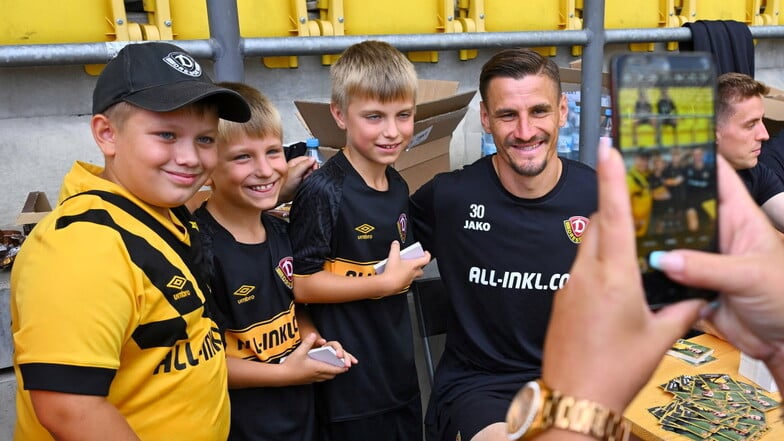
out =
[[(408, 149), (394, 164), (413, 193), (436, 173), (450, 170), (449, 143), (452, 132), (468, 111), (476, 91), (457, 93), (456, 81), (419, 80), (414, 116), (414, 137)], [(294, 101), (300, 120), (319, 139), (324, 159), (330, 158), (346, 143), (329, 103)]]

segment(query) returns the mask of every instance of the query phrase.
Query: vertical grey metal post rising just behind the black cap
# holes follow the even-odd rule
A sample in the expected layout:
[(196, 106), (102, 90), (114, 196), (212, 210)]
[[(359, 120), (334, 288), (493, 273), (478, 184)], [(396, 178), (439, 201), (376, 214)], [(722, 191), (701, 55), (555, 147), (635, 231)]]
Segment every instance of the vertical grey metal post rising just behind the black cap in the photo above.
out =
[(235, 0), (207, 0), (210, 37), (215, 46), (215, 80), (245, 80), (240, 21)]

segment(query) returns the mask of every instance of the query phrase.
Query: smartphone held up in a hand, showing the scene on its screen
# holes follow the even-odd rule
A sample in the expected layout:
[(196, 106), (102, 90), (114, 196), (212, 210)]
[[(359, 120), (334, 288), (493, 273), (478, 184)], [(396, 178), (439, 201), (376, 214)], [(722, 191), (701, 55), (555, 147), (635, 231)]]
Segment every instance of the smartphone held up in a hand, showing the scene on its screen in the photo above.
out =
[(708, 53), (621, 53), (610, 62), (613, 145), (623, 155), (649, 305), (711, 299), (651, 268), (653, 251), (717, 251), (716, 68)]

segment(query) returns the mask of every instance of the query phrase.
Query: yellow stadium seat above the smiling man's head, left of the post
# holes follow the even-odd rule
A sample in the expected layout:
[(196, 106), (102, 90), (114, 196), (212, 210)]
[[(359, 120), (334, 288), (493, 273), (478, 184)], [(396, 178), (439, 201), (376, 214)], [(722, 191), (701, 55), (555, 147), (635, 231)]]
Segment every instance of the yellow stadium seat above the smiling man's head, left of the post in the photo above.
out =
[[(475, 23), (477, 32), (522, 32), (582, 29), (576, 0), (459, 0), (461, 19)], [(470, 26), (471, 24), (469, 24)], [(554, 46), (534, 48), (546, 56)]]

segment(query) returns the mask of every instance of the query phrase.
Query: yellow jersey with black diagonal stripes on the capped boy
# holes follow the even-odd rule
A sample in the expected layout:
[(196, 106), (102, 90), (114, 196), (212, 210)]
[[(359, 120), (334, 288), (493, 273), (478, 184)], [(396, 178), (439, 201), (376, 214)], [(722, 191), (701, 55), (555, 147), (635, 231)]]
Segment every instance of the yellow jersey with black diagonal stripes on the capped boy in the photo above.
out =
[(14, 264), (15, 436), (52, 439), (29, 394), (50, 390), (105, 396), (141, 439), (225, 439), (226, 355), (195, 269), (193, 224), (100, 173), (73, 167), (63, 185), (72, 197)]

